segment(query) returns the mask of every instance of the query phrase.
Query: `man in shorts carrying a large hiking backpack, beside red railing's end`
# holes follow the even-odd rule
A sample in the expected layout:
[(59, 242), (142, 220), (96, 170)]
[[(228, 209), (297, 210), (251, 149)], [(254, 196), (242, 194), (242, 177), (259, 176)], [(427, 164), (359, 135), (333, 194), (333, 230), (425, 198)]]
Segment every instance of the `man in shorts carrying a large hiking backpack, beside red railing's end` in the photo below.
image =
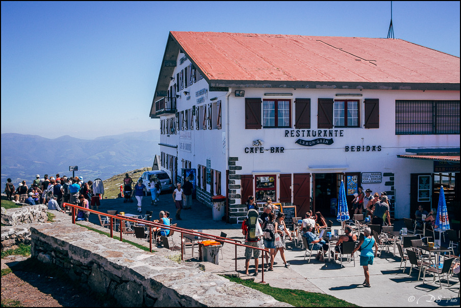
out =
[[(255, 235), (257, 225), (261, 228), (262, 221), (258, 218), (259, 213), (257, 210), (251, 209), (248, 211), (247, 219), (242, 223), (242, 233), (245, 236), (245, 245), (251, 247), (259, 247), (259, 237)], [(250, 247), (245, 247), (245, 274), (249, 275), (248, 268), (250, 265), (251, 251), (253, 252), (254, 258), (254, 274), (253, 276), (258, 276), (258, 258), (260, 255), (259, 249), (253, 249)]]

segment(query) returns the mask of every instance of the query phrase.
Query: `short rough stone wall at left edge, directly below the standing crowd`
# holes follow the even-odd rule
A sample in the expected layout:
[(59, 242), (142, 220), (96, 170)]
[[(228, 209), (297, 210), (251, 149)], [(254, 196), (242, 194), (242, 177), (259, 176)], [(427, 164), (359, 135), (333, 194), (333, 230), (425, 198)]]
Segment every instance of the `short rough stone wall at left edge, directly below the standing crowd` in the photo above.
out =
[(15, 226), (22, 223), (45, 222), (48, 219), (47, 209), (48, 207), (44, 204), (8, 210), (2, 208), (2, 223)]

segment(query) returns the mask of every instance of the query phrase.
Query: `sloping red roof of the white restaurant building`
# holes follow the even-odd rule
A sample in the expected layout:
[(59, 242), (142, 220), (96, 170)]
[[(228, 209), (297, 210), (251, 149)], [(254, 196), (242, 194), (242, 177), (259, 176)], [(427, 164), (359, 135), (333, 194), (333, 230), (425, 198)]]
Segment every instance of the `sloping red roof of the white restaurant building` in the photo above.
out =
[(459, 84), (459, 57), (400, 39), (171, 32), (220, 81)]

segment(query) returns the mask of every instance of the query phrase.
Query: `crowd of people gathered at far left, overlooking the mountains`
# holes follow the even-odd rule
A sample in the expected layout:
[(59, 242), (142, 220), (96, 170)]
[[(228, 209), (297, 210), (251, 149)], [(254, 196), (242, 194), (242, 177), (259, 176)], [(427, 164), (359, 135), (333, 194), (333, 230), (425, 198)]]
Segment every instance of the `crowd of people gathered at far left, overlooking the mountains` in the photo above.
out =
[[(8, 200), (15, 203), (25, 203), (30, 205), (47, 204), (49, 210), (57, 210), (65, 213), (63, 203), (78, 204), (84, 208), (89, 208), (92, 196), (93, 182), (85, 182), (83, 177), (54, 176), (45, 174), (43, 178), (40, 174), (36, 175), (32, 184), (28, 185), (22, 181), (15, 188), (11, 178), (7, 179), (5, 194)], [(80, 216), (79, 216), (80, 215)], [(78, 217), (88, 221), (89, 213), (80, 211)]]

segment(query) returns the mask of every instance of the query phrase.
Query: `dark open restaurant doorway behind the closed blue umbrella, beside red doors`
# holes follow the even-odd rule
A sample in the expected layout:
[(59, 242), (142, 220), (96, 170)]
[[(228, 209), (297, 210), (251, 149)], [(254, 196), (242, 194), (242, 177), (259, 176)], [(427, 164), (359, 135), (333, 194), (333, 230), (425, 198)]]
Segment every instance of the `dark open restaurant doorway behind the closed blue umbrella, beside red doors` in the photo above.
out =
[(336, 215), (338, 176), (342, 177), (342, 175), (343, 173), (314, 173), (312, 186), (314, 212), (320, 212), (323, 216)]

